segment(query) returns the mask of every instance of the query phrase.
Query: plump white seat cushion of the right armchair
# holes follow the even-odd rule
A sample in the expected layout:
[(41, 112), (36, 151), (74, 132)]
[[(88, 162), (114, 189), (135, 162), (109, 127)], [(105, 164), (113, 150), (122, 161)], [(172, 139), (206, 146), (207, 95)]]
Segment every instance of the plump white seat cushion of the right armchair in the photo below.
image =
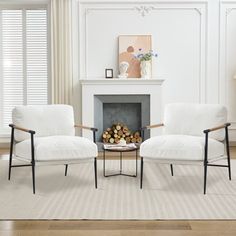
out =
[[(189, 135), (161, 135), (141, 144), (140, 156), (162, 160), (203, 161), (205, 138)], [(224, 155), (224, 144), (209, 138), (208, 159)]]

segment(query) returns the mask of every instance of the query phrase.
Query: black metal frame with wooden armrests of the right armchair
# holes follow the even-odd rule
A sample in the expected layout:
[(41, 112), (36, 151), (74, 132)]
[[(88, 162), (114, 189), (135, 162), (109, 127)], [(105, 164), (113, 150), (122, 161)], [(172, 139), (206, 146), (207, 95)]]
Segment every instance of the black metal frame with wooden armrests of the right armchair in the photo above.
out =
[[(206, 129), (203, 130), (203, 133), (205, 134), (205, 145), (204, 145), (204, 160), (203, 160), (203, 166), (204, 166), (204, 185), (203, 185), (203, 193), (206, 194), (206, 185), (207, 185), (207, 167), (208, 166), (212, 166), (212, 167), (226, 167), (228, 168), (228, 173), (229, 173), (229, 180), (231, 180), (231, 164), (230, 164), (230, 151), (229, 151), (229, 132), (228, 132), (228, 127), (230, 126), (230, 123), (225, 123), (223, 125), (214, 127), (214, 128), (210, 128), (210, 129)], [(148, 129), (152, 129), (152, 128), (159, 128), (159, 127), (163, 127), (164, 124), (160, 123), (160, 124), (156, 124), (156, 125), (148, 125), (145, 127), (142, 127), (140, 129), (141, 131), (141, 136), (144, 140), (144, 131), (148, 130)], [(208, 139), (209, 139), (209, 133), (216, 131), (216, 130), (220, 130), (220, 129), (225, 129), (225, 147), (226, 147), (226, 155), (227, 155), (227, 165), (218, 165), (218, 164), (212, 164), (209, 163), (208, 161)], [(141, 158), (141, 171), (140, 171), (140, 188), (142, 189), (143, 187), (143, 166), (144, 166), (144, 162), (143, 162), (143, 157)], [(170, 164), (170, 168), (171, 168), (171, 175), (174, 175), (173, 172), (173, 164)]]

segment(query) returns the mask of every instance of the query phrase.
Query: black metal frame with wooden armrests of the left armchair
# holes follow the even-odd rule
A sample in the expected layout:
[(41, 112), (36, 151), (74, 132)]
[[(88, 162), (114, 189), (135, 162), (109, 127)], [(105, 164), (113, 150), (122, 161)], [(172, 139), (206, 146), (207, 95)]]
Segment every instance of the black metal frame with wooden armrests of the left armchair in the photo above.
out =
[[(23, 127), (16, 126), (14, 124), (9, 124), (11, 128), (11, 144), (10, 144), (10, 155), (9, 155), (9, 169), (8, 169), (8, 180), (11, 179), (11, 169), (15, 167), (32, 167), (32, 182), (33, 182), (33, 194), (35, 194), (35, 153), (34, 153), (34, 135), (36, 132), (34, 130), (26, 129)], [(97, 128), (83, 126), (83, 125), (74, 125), (75, 128), (80, 129), (88, 129), (93, 132), (93, 142), (96, 143), (96, 132), (98, 131)], [(13, 165), (12, 158), (13, 158), (13, 148), (16, 143), (15, 140), (15, 130), (19, 130), (22, 132), (26, 132), (30, 134), (31, 140), (31, 164), (23, 164), (23, 165)], [(68, 164), (65, 164), (65, 176), (67, 176)], [(97, 157), (94, 157), (94, 175), (95, 175), (95, 188), (97, 188)]]

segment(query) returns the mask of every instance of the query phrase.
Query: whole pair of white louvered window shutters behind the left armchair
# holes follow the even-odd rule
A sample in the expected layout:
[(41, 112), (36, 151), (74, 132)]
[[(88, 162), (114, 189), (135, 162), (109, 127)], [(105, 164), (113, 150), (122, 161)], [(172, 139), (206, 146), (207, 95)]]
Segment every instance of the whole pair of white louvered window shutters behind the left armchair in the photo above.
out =
[(17, 105), (48, 103), (46, 9), (0, 10), (0, 134)]

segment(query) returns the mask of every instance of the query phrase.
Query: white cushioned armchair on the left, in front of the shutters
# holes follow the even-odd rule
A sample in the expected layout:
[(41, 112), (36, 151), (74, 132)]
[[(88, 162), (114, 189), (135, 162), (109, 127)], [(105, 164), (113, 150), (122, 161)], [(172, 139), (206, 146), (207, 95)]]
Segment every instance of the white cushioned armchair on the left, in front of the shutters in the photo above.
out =
[[(35, 193), (35, 166), (40, 164), (65, 165), (94, 160), (95, 187), (97, 188), (96, 128), (75, 125), (74, 111), (69, 105), (19, 106), (12, 111), (9, 175), (11, 168), (32, 167), (33, 193)], [(75, 128), (89, 129), (94, 140), (75, 136)], [(12, 159), (25, 161), (13, 165)]]

